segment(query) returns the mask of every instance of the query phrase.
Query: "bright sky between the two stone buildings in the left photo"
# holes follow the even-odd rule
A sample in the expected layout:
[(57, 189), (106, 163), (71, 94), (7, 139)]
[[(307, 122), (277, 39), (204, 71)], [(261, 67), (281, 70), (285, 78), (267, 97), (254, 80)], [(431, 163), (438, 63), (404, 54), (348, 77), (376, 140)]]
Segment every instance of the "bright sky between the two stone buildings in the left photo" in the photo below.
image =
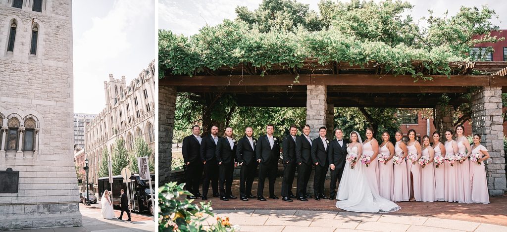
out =
[(74, 0), (74, 112), (105, 107), (104, 81), (127, 85), (157, 58), (156, 0)]

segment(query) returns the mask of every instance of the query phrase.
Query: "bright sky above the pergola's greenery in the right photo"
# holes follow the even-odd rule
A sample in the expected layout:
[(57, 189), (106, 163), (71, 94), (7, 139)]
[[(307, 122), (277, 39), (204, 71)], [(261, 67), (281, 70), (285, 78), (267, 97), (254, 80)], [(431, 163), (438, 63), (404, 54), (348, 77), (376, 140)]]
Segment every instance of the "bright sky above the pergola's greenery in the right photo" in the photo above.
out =
[[(159, 0), (159, 29), (168, 29), (177, 34), (187, 36), (196, 34), (199, 28), (206, 25), (217, 25), (224, 19), (234, 19), (236, 6), (246, 6), (250, 11), (259, 7), (262, 0)], [(318, 12), (319, 0), (297, 0), (299, 3), (309, 4), (310, 9)], [(340, 1), (345, 2), (345, 1)], [(380, 2), (375, 0), (374, 2)], [(449, 15), (455, 15), (460, 6), (481, 7), (488, 5), (499, 15), (491, 22), (507, 29), (507, 14), (505, 3), (498, 0), (460, 0), (460, 1), (437, 1), (437, 0), (410, 0), (415, 7), (410, 14), (414, 21), (423, 16), (428, 16), (428, 10), (433, 11), (434, 16), (442, 16), (447, 10)]]

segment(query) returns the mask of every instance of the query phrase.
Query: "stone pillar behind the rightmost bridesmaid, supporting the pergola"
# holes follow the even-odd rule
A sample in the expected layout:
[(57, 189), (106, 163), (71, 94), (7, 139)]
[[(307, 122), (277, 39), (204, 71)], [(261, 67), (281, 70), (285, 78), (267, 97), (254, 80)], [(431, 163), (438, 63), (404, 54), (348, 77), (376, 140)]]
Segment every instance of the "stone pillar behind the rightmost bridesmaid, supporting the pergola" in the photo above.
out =
[(501, 87), (480, 87), (472, 93), (472, 131), (482, 136), (481, 143), (490, 158), (485, 162), (489, 194), (505, 191), (505, 154), (503, 151), (503, 117)]

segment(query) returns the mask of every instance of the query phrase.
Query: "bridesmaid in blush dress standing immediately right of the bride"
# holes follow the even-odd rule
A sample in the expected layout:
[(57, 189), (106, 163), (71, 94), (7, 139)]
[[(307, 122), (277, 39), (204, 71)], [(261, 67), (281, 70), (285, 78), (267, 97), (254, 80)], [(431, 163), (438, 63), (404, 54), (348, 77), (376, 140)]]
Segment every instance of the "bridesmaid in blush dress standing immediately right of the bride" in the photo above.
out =
[(368, 179), (372, 191), (374, 194), (379, 195), (379, 162), (377, 159), (377, 155), (379, 154), (379, 143), (375, 138), (373, 138), (373, 129), (366, 129), (366, 141), (363, 143), (363, 155), (370, 156), (371, 160), (368, 164), (363, 165), (363, 169), (365, 169), (366, 178)]

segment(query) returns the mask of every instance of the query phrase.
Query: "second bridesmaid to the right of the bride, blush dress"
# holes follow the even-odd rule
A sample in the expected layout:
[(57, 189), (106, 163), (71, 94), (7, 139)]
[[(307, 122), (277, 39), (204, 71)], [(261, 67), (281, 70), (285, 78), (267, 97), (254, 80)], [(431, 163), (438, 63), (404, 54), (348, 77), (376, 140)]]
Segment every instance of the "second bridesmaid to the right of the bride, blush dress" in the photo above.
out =
[(382, 144), (380, 144), (380, 152), (381, 154), (385, 154), (388, 158), (382, 163), (379, 162), (379, 188), (380, 188), (380, 196), (392, 201), (392, 175), (393, 175), (393, 167), (392, 167), (392, 157), (394, 156), (394, 146), (389, 141), (389, 133), (384, 131), (382, 133)]

